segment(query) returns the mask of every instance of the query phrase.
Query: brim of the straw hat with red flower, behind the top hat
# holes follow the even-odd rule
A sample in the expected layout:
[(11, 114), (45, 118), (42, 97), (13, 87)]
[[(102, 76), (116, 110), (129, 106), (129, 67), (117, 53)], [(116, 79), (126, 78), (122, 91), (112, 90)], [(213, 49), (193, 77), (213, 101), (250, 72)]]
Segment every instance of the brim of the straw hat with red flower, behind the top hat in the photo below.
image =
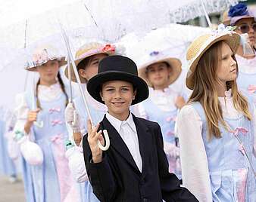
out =
[[(79, 57), (78, 59), (76, 59), (74, 62), (75, 62), (75, 65), (76, 65), (76, 69), (77, 69), (77, 66), (79, 65), (80, 62), (82, 62), (82, 60), (85, 60), (87, 57), (91, 57), (91, 56), (95, 56), (95, 55), (98, 55), (98, 54), (106, 54), (108, 56), (110, 55), (113, 55), (114, 52), (113, 51), (104, 51), (104, 50), (100, 50), (98, 52), (95, 52), (95, 53), (92, 53), (92, 54), (84, 54), (82, 55), (81, 57)], [(73, 72), (73, 66), (72, 64), (70, 65), (70, 70), (71, 70), (71, 81), (77, 83), (77, 80), (76, 80), (76, 75), (75, 73)], [(68, 79), (68, 68), (66, 66), (66, 69), (65, 69), (65, 76), (67, 77)], [(83, 78), (82, 76), (80, 76), (80, 81), (82, 84), (86, 84), (87, 83), (87, 79), (86, 78)]]

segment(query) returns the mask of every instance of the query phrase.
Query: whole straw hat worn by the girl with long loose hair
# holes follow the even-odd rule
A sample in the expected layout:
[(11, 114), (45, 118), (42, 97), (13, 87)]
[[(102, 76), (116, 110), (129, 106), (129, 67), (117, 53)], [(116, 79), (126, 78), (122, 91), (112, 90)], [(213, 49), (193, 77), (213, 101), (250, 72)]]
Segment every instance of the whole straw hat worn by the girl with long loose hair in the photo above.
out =
[[(227, 28), (226, 28), (227, 29)], [(189, 63), (189, 72), (186, 77), (186, 86), (193, 90), (194, 87), (194, 72), (198, 65), (201, 56), (217, 41), (225, 41), (229, 45), (234, 54), (239, 47), (240, 35), (236, 32), (223, 30), (222, 32), (214, 32), (213, 34), (201, 35), (190, 44), (186, 60)]]

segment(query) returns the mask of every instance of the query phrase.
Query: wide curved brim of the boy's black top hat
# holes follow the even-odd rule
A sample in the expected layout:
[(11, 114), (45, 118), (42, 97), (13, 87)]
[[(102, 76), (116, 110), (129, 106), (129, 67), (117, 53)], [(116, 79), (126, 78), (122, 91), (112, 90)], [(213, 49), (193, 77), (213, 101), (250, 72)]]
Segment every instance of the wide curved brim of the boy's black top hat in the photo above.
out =
[(132, 105), (140, 103), (148, 98), (148, 85), (139, 76), (117, 71), (102, 72), (89, 79), (86, 84), (89, 94), (99, 103), (104, 103), (100, 96), (101, 86), (107, 81), (127, 81), (136, 87), (136, 96), (133, 99)]

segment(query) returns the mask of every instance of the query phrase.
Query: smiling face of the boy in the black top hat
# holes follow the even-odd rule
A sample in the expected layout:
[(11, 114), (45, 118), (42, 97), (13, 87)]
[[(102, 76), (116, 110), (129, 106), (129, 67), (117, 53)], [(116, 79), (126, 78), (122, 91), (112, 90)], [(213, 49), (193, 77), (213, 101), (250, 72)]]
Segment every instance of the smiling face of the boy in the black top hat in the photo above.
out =
[(126, 115), (135, 99), (133, 84), (126, 81), (108, 81), (102, 85), (101, 98), (114, 117)]

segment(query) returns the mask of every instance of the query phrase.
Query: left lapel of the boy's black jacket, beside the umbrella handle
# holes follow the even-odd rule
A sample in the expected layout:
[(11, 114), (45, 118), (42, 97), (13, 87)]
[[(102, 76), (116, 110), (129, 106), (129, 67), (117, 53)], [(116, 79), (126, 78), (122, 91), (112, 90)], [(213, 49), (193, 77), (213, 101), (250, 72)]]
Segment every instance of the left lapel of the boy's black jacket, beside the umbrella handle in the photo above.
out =
[(133, 156), (130, 154), (129, 149), (127, 148), (125, 142), (123, 142), (120, 134), (115, 130), (115, 128), (111, 125), (108, 119), (105, 117), (103, 121), (101, 121), (101, 129), (108, 130), (108, 136), (111, 142), (111, 146), (135, 169), (139, 172), (139, 169), (133, 160)]

